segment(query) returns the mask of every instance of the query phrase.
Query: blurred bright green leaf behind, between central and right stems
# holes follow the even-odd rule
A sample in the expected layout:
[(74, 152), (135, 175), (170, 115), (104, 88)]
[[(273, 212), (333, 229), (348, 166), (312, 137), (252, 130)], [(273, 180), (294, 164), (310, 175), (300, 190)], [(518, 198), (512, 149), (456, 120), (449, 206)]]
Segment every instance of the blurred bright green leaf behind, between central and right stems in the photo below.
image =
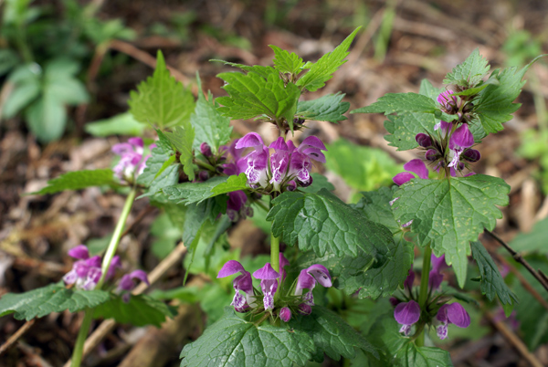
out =
[(396, 164), (387, 152), (344, 139), (327, 145), (325, 160), (325, 166), (330, 171), (337, 173), (346, 184), (359, 191), (372, 191), (381, 185), (393, 184), (392, 177), (403, 172), (401, 164)]

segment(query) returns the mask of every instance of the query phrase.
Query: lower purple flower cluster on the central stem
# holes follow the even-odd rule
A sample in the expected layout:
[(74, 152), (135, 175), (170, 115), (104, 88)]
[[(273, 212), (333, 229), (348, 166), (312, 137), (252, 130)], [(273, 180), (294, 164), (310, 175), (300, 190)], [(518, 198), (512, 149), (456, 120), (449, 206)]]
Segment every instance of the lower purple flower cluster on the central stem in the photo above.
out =
[[(277, 312), (279, 319), (288, 322), (293, 312), (303, 315), (311, 314), (311, 307), (314, 306), (312, 289), (316, 286), (316, 283), (320, 283), (321, 286), (326, 288), (332, 286), (329, 270), (322, 265), (315, 264), (300, 271), (296, 284), (293, 284), (286, 295), (275, 298), (276, 292), (283, 289), (286, 279), (284, 267), (289, 264), (290, 262), (283, 254), (279, 254), (280, 272), (274, 270), (270, 263), (255, 271), (253, 278), (260, 280), (261, 291), (253, 287), (251, 273), (236, 260), (227, 261), (219, 271), (217, 278), (226, 278), (240, 273), (232, 282), (236, 294), (231, 305), (234, 306), (237, 312), (251, 311), (260, 313), (268, 311), (270, 314)], [(307, 291), (304, 292), (304, 290)]]

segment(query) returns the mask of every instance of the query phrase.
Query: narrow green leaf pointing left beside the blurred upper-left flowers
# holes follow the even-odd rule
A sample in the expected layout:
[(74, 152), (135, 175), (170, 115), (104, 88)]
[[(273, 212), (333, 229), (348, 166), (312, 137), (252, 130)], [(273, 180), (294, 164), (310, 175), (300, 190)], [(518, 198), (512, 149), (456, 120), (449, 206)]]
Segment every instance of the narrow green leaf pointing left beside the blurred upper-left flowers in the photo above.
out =
[(116, 185), (112, 170), (74, 171), (49, 180), (47, 186), (32, 194), (55, 194), (65, 190), (79, 190), (103, 184)]

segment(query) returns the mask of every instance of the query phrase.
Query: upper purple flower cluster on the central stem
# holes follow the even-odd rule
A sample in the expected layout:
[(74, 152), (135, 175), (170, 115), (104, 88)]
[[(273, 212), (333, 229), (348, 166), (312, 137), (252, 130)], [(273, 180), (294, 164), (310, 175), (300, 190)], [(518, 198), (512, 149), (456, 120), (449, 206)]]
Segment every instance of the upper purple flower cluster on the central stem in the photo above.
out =
[[(312, 161), (325, 163), (321, 151), (327, 151), (323, 142), (315, 136), (306, 138), (298, 148), (282, 137), (267, 147), (257, 132), (246, 134), (235, 148), (253, 148), (253, 152), (237, 162), (237, 167), (248, 176), (248, 183), (255, 188), (270, 187), (274, 191), (294, 191), (297, 185), (310, 185)], [(269, 149), (274, 152), (270, 154)]]

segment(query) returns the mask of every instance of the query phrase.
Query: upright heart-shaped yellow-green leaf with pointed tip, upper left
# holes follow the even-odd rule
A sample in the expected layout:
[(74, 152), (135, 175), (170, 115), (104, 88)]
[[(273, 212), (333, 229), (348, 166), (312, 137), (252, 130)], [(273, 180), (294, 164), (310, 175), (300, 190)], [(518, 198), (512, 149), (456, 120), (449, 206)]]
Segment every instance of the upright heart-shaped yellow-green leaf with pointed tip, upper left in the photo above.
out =
[(135, 120), (161, 129), (187, 123), (195, 106), (192, 91), (170, 75), (161, 51), (153, 76), (132, 90), (128, 103)]

